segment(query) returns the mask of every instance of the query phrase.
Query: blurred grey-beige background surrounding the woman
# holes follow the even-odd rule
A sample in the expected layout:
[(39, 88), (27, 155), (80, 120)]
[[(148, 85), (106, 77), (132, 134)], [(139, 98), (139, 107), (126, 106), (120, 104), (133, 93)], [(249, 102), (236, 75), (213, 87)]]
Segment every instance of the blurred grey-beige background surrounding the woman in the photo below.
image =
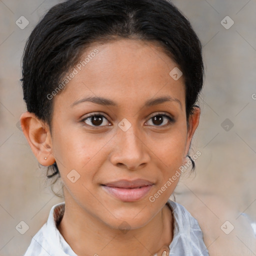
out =
[[(19, 81), (24, 44), (41, 15), (58, 2), (0, 0), (2, 256), (22, 255), (47, 220), (52, 205), (63, 201), (45, 183), (44, 170), (38, 168), (18, 128), (19, 116), (26, 111)], [(179, 181), (175, 198), (196, 218), (202, 218), (199, 223), (203, 218), (208, 218), (208, 222), (216, 220), (221, 236), (220, 226), (228, 220), (225, 207), (236, 214), (230, 220), (234, 227), (240, 213), (256, 221), (256, 0), (173, 2), (198, 34), (206, 68), (200, 124), (190, 153), (200, 150), (201, 156), (195, 162), (195, 172), (188, 175), (187, 170)], [(55, 190), (58, 189), (56, 186)], [(222, 212), (220, 205), (224, 205)], [(16, 229), (20, 221), (29, 226), (24, 234)], [(212, 238), (211, 247), (216, 237)], [(248, 255), (256, 255), (242, 236), (237, 237), (234, 243), (247, 247), (251, 253)]]

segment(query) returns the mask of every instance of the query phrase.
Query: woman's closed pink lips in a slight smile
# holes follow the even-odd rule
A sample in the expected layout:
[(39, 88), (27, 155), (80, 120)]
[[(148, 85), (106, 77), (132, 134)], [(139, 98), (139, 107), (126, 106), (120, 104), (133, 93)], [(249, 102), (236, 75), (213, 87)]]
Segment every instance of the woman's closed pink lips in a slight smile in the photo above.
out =
[(144, 197), (152, 187), (153, 183), (145, 179), (117, 180), (106, 183), (102, 187), (115, 198), (122, 201), (137, 201)]

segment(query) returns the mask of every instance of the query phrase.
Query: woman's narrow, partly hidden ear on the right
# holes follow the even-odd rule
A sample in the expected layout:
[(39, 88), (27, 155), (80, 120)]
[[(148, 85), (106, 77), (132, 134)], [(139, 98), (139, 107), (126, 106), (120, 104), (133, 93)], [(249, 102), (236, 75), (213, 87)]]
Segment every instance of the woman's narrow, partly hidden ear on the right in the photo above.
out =
[(200, 118), (200, 107), (199, 106), (194, 106), (193, 107), (193, 112), (189, 116), (188, 119), (188, 127), (187, 127), (187, 135), (186, 135), (186, 145), (185, 145), (185, 151), (184, 151), (184, 159), (186, 158), (186, 155), (188, 154), (188, 150), (190, 148), (191, 140), (193, 137), (193, 134), (199, 124), (199, 118)]

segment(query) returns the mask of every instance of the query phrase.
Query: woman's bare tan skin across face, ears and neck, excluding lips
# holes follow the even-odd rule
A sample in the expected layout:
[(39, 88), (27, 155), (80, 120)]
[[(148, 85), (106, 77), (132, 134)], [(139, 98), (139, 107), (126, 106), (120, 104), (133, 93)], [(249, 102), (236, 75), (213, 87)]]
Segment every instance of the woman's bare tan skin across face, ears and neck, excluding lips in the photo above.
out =
[[(21, 126), (37, 160), (58, 165), (65, 197), (58, 229), (76, 254), (153, 255), (173, 237), (173, 217), (165, 203), (178, 178), (154, 202), (148, 198), (185, 163), (200, 109), (195, 108), (187, 126), (183, 77), (175, 81), (169, 75), (177, 65), (157, 43), (118, 39), (94, 44), (81, 59), (95, 48), (96, 56), (52, 99), (51, 133), (29, 112), (21, 115)], [(71, 107), (87, 96), (111, 99), (116, 106), (86, 101)], [(160, 96), (175, 100), (144, 106)], [(93, 128), (91, 118), (82, 121), (91, 113), (106, 117), (101, 126)], [(175, 121), (161, 116), (157, 123), (151, 118), (157, 114)], [(118, 127), (123, 118), (131, 124), (127, 131)], [(67, 178), (72, 169), (80, 175), (74, 183)], [(138, 201), (116, 199), (101, 186), (136, 178), (154, 183)], [(127, 232), (119, 228), (123, 221)]]

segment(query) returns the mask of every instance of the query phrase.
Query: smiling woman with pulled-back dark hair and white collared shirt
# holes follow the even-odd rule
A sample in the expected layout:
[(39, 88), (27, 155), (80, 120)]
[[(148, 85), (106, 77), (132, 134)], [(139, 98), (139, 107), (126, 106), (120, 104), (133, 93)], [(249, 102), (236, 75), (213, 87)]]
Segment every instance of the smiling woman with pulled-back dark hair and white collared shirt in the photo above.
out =
[(65, 202), (25, 253), (208, 255), (169, 199), (199, 122), (201, 44), (167, 0), (68, 0), (27, 41), (22, 130)]

